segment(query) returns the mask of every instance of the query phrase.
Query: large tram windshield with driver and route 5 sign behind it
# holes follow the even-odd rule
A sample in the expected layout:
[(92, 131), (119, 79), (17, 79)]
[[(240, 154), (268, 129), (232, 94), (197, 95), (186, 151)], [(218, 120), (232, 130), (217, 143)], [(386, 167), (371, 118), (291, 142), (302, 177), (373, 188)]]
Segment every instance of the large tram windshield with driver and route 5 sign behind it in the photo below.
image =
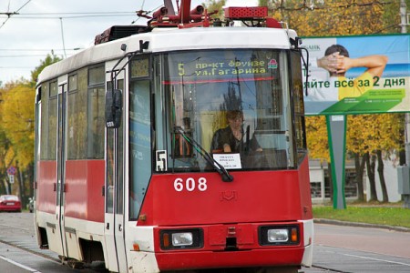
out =
[(230, 171), (293, 167), (285, 51), (157, 57), (164, 65), (156, 73), (161, 86), (155, 95), (157, 171), (212, 170), (207, 154)]

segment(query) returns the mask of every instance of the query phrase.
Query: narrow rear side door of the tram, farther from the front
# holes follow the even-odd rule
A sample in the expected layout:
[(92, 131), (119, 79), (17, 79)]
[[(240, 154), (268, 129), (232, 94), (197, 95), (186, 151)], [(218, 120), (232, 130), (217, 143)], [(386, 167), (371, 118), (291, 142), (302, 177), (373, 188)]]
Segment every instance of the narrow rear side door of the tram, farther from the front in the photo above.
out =
[(65, 172), (66, 172), (66, 124), (67, 124), (67, 81), (58, 84), (57, 96), (57, 181), (56, 181), (56, 236), (61, 244), (58, 253), (67, 257), (67, 246), (64, 225), (64, 199), (65, 199)]

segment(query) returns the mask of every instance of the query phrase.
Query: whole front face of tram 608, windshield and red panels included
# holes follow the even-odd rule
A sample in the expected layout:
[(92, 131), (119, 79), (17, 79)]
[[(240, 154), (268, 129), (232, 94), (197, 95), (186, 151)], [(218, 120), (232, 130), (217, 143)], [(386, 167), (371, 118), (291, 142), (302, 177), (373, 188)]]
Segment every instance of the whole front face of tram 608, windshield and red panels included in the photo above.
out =
[(133, 58), (136, 271), (311, 265), (301, 53), (287, 47), (181, 45)]

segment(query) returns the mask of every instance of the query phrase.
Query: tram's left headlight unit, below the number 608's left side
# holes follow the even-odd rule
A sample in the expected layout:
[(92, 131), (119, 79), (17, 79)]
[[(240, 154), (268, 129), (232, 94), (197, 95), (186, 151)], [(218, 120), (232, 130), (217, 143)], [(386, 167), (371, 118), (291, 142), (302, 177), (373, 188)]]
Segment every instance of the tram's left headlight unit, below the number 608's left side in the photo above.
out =
[(162, 229), (159, 232), (162, 249), (202, 248), (203, 231), (192, 229)]

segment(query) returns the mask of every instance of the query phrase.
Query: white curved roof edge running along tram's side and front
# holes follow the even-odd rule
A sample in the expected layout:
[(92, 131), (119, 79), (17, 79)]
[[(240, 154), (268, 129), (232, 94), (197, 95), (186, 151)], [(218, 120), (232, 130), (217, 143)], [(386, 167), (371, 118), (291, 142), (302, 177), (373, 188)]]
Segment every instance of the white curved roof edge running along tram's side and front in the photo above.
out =
[[(152, 32), (130, 35), (108, 43), (93, 45), (56, 64), (46, 66), (37, 83), (76, 71), (79, 68), (118, 59), (139, 49), (139, 40), (149, 41), (146, 53), (163, 53), (199, 49), (270, 48), (289, 49), (293, 30), (267, 27), (195, 27), (158, 28)], [(126, 44), (126, 51), (121, 45)]]

